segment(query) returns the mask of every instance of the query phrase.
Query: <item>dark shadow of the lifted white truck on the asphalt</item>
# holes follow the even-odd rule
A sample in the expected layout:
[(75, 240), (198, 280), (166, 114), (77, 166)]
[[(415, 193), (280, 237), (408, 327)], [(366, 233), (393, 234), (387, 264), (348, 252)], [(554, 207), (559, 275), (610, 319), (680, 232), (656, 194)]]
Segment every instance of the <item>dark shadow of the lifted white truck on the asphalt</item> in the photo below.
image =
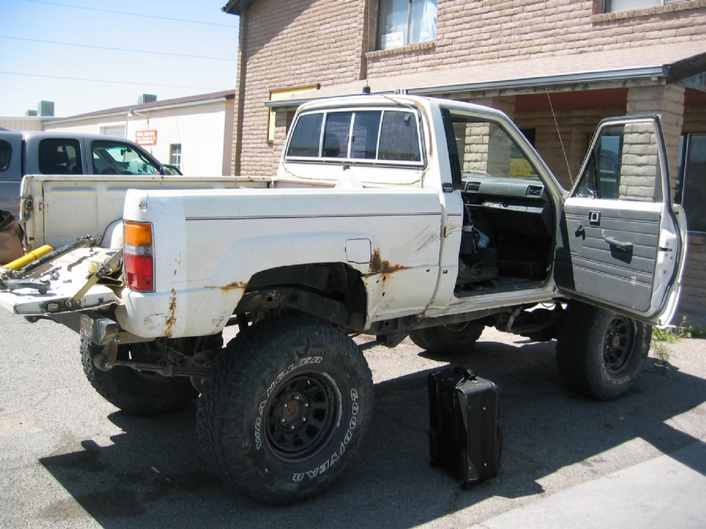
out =
[[(502, 389), (500, 475), (470, 490), (429, 466), (426, 370), (376, 384), (376, 412), (357, 460), (312, 501), (268, 508), (220, 482), (200, 455), (192, 405), (151, 419), (112, 413), (109, 420), (124, 430), (112, 446), (88, 439), (82, 451), (41, 458), (76, 500), (48, 506), (44, 517), (71, 523), (88, 513), (104, 528), (412, 528), (472, 507), (466, 525), (514, 506), (513, 499), (654, 457), (652, 447), (669, 454), (698, 440), (681, 431), (689, 431), (689, 418), (673, 418), (706, 402), (706, 380), (676, 367), (664, 372), (652, 358), (634, 389), (609, 403), (563, 387), (554, 343), (481, 341), (471, 355), (443, 360), (472, 367)], [(623, 457), (636, 438), (642, 442), (631, 450), (640, 453)]]

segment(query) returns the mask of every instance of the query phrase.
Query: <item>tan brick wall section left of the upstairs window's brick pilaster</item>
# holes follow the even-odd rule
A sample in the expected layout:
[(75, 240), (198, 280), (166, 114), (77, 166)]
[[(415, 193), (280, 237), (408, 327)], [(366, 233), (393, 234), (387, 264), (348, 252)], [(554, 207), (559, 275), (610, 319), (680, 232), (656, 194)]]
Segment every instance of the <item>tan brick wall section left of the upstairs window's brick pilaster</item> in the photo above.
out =
[(246, 77), (237, 174), (271, 176), (277, 171), (285, 127), (278, 113), (275, 141), (267, 142), (270, 90), (360, 77), (369, 17), (365, 8), (357, 0), (258, 0), (249, 8), (241, 20), (247, 35)]

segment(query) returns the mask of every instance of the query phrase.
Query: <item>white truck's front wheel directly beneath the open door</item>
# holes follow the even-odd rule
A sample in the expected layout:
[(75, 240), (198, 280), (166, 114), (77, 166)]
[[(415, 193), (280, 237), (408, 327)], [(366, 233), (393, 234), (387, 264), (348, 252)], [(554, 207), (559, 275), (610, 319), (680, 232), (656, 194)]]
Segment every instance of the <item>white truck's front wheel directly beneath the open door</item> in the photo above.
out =
[(609, 401), (630, 389), (650, 351), (652, 327), (572, 301), (558, 329), (556, 363), (566, 386)]

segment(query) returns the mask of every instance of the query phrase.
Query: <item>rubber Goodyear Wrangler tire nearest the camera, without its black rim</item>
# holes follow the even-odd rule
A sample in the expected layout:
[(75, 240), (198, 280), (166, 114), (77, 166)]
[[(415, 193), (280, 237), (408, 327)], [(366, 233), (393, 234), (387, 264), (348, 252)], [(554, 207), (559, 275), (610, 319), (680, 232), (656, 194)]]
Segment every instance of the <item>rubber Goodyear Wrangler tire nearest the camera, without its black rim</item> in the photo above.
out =
[[(289, 467), (297, 463), (288, 465), (275, 460), (264, 441), (261, 449), (256, 451), (252, 432), (244, 425), (257, 417), (262, 391), (282, 365), (306, 356), (307, 346), (335, 348), (335, 363), (348, 366), (348, 378), (359, 379), (360, 385), (356, 389), (361, 403), (360, 420), (353, 437), (355, 442), (347, 446), (335, 465), (319, 475), (316, 481), (305, 478), (294, 485)], [(329, 369), (330, 365), (329, 362), (321, 369)], [(346, 381), (336, 379), (337, 384), (342, 382)], [(346, 389), (341, 391), (345, 393)], [(198, 439), (206, 458), (225, 482), (263, 504), (292, 504), (328, 490), (349, 467), (370, 422), (372, 399), (370, 369), (360, 348), (346, 334), (305, 317), (273, 317), (239, 332), (216, 359), (213, 377), (198, 399)], [(345, 432), (345, 426), (333, 434), (334, 439), (341, 430)], [(262, 434), (265, 435), (264, 429)], [(337, 446), (337, 442), (332, 440), (331, 446)], [(272, 470), (270, 481), (263, 477), (256, 463), (261, 458), (267, 460)], [(289, 481), (278, 478), (279, 475), (288, 475)]]

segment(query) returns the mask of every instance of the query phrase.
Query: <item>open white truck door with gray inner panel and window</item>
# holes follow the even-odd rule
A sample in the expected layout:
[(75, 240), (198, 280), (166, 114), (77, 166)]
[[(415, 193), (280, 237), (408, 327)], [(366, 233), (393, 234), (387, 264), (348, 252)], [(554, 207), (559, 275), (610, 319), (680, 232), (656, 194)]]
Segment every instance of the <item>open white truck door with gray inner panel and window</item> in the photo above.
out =
[(671, 202), (657, 116), (599, 123), (558, 229), (554, 279), (563, 293), (669, 323), (681, 288), (686, 218)]

